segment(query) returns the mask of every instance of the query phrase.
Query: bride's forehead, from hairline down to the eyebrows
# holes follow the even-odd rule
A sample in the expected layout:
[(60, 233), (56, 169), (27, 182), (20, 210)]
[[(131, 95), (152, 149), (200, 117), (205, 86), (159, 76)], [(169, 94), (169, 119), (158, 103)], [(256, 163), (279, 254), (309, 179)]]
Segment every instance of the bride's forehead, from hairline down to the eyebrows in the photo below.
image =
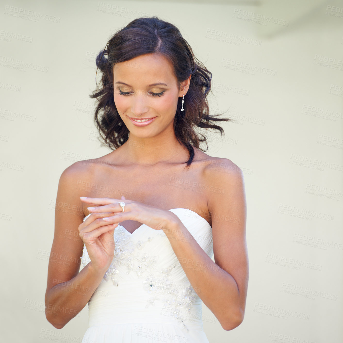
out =
[(113, 67), (113, 76), (114, 81), (120, 80), (131, 85), (141, 82), (150, 84), (176, 81), (173, 64), (159, 54), (145, 54), (125, 62), (116, 63)]

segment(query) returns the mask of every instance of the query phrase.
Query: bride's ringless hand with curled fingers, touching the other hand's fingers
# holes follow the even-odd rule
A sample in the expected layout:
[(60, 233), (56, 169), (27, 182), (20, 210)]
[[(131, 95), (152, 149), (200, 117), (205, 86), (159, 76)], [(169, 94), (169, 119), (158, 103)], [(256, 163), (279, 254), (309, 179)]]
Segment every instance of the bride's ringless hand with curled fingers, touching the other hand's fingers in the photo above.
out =
[(79, 226), (79, 235), (87, 249), (92, 267), (107, 270), (114, 257), (114, 230), (118, 223), (108, 224), (102, 220), (114, 212), (92, 213)]

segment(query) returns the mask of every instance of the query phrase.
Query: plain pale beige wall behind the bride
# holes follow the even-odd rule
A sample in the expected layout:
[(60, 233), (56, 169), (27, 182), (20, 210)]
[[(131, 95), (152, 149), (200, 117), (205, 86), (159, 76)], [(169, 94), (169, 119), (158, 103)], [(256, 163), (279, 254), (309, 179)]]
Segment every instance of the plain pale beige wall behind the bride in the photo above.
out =
[[(232, 331), (203, 305), (209, 341), (342, 342), (343, 4), (315, 3), (2, 2), (3, 341), (83, 337), (87, 306), (61, 330), (44, 315), (58, 180), (73, 162), (109, 152), (88, 97), (96, 54), (131, 20), (157, 15), (213, 73), (212, 113), (230, 107), (236, 119), (222, 140), (211, 135), (207, 153), (244, 171), (248, 297)], [(261, 19), (270, 13), (276, 24)]]

